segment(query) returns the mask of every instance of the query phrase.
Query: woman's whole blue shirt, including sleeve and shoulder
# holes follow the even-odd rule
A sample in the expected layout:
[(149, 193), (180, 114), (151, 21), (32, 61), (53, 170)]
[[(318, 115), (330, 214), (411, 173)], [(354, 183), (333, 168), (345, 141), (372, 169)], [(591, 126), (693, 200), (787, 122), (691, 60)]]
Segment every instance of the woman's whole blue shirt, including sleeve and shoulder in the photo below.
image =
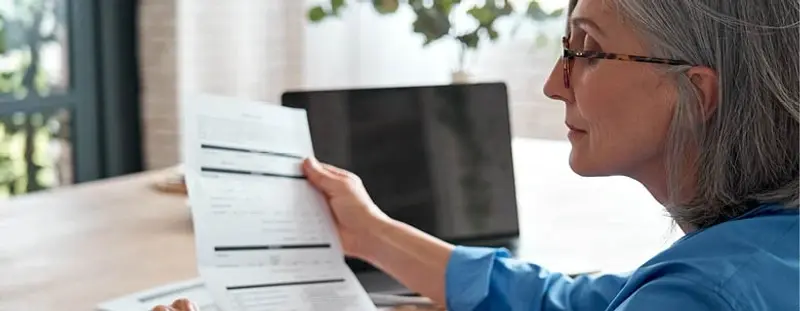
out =
[(575, 279), (459, 246), (446, 272), (450, 311), (800, 310), (798, 209), (761, 206), (692, 232), (632, 273)]

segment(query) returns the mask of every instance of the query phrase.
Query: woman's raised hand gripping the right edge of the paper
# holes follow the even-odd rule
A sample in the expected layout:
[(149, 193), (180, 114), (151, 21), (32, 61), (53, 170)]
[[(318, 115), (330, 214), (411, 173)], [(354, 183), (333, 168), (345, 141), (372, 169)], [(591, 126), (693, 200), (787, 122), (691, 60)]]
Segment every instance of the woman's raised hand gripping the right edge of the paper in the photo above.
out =
[(316, 159), (303, 162), (309, 182), (325, 196), (332, 210), (342, 247), (349, 256), (369, 255), (369, 239), (381, 223), (390, 221), (367, 194), (361, 179)]

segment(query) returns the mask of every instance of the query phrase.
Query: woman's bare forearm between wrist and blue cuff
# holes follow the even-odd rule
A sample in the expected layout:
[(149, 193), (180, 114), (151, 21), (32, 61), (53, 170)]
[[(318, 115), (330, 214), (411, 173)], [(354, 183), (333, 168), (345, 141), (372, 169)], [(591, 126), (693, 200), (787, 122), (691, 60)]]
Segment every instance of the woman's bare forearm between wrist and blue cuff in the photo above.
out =
[(444, 304), (445, 271), (455, 247), (394, 220), (382, 221), (375, 229), (365, 239), (361, 259), (412, 291)]

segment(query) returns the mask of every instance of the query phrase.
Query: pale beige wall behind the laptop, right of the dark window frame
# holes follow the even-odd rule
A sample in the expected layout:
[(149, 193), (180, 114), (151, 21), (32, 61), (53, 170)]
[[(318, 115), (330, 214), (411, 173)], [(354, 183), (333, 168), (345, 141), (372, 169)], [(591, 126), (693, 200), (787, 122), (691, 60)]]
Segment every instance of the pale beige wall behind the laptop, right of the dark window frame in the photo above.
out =
[[(564, 0), (566, 3), (566, 0)], [(448, 83), (455, 46), (428, 48), (410, 33), (410, 12), (380, 17), (364, 7), (308, 25), (318, 0), (142, 0), (145, 161), (179, 159), (178, 89), (277, 102), (285, 89)], [(558, 46), (534, 48), (532, 30), (473, 55), (478, 81), (509, 85), (516, 136), (560, 139), (563, 107), (541, 95)], [(549, 25), (557, 37), (559, 26)], [(555, 40), (553, 40), (555, 42)]]

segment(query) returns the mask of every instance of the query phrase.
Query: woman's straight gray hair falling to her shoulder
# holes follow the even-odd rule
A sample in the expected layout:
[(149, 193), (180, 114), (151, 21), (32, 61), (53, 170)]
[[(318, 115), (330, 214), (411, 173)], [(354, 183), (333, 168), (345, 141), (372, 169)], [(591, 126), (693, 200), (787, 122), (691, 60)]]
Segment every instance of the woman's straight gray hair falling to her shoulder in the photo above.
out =
[[(717, 107), (704, 116), (686, 74), (691, 67), (664, 67), (678, 87), (666, 149), (665, 205), (675, 221), (701, 229), (757, 204), (798, 208), (800, 2), (614, 2), (652, 56), (707, 66), (718, 75)], [(688, 201), (680, 196), (687, 176)]]

